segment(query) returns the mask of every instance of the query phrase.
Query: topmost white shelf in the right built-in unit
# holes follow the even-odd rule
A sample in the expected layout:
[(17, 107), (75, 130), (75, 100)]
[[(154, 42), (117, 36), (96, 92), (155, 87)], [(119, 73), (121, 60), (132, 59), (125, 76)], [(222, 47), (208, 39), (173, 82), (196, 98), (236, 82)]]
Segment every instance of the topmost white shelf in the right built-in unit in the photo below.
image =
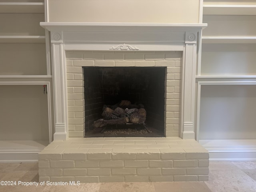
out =
[(204, 4), (204, 15), (256, 15), (256, 5)]

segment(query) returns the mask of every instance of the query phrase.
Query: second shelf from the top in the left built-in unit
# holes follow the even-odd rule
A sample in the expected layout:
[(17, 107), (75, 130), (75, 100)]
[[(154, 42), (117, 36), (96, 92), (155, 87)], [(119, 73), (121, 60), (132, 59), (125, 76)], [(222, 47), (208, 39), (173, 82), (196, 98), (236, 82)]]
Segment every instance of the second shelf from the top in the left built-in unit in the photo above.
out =
[(37, 35), (3, 35), (0, 43), (45, 43), (45, 36)]

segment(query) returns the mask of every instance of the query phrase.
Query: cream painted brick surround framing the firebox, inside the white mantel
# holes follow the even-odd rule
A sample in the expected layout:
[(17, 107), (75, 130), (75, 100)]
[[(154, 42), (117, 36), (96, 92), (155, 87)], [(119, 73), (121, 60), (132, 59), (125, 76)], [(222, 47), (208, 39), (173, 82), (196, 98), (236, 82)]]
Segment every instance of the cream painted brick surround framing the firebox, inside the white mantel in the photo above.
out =
[(165, 136), (179, 136), (182, 52), (68, 51), (66, 52), (69, 137), (84, 137), (85, 100), (82, 66), (166, 67)]

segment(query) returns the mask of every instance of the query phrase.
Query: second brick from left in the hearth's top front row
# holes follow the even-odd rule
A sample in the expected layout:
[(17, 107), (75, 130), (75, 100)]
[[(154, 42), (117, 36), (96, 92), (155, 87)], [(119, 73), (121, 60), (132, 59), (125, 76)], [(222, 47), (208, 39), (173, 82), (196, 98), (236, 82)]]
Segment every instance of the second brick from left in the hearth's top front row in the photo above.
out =
[(85, 149), (66, 149), (62, 154), (63, 160), (86, 160), (86, 152), (88, 150)]

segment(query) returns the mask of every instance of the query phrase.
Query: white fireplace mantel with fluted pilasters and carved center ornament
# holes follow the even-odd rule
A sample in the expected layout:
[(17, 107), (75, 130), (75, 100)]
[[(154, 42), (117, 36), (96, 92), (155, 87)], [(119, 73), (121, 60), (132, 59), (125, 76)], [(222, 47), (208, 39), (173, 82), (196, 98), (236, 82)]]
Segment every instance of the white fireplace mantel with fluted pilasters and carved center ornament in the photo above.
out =
[(65, 50), (183, 51), (180, 137), (195, 138), (195, 76), (200, 32), (207, 24), (41, 22), (50, 31), (54, 140), (68, 138)]

